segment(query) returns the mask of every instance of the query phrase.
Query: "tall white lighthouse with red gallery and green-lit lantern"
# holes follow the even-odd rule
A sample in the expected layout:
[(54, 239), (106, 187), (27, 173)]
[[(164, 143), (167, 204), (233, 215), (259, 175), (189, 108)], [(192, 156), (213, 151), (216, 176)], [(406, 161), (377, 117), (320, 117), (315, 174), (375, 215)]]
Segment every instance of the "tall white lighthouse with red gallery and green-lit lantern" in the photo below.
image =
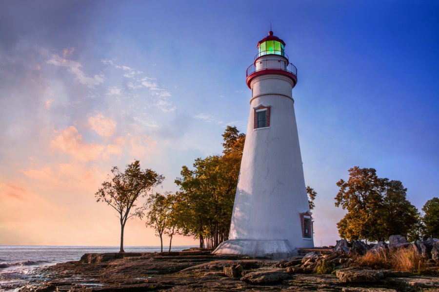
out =
[(229, 240), (217, 255), (286, 257), (314, 247), (292, 90), (297, 68), (270, 31), (247, 68), (252, 91)]

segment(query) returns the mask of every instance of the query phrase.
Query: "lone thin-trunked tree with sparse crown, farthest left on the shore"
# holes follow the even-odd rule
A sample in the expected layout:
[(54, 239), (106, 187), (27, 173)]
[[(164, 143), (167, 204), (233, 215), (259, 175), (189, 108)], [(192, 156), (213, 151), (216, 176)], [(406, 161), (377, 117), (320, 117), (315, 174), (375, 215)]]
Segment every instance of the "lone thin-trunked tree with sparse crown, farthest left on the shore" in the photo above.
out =
[(102, 183), (95, 193), (96, 201), (103, 201), (116, 210), (120, 219), (120, 253), (123, 250), (123, 230), (129, 218), (142, 218), (144, 205), (137, 207), (139, 198), (147, 195), (159, 185), (164, 177), (151, 169), (141, 169), (139, 160), (126, 166), (121, 172), (117, 166), (111, 169), (112, 176)]

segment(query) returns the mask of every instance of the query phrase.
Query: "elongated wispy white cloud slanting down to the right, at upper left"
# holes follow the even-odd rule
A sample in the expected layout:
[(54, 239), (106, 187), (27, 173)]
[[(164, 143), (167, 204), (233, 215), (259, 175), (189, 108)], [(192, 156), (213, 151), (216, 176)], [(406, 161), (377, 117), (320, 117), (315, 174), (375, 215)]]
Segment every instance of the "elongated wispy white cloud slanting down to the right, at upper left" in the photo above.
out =
[(105, 76), (103, 74), (95, 74), (93, 77), (87, 76), (84, 71), (82, 71), (82, 65), (79, 62), (68, 60), (60, 55), (52, 55), (52, 58), (48, 60), (47, 63), (67, 68), (68, 72), (76, 76), (76, 80), (78, 80), (78, 82), (89, 88), (94, 88), (96, 85), (101, 84), (105, 80)]

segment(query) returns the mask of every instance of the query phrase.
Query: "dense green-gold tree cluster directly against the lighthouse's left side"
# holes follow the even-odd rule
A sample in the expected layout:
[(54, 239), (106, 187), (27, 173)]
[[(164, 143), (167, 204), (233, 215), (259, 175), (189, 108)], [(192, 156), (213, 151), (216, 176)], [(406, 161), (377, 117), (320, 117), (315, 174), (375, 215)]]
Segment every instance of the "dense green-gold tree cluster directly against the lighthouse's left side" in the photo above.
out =
[(177, 207), (183, 234), (204, 237), (208, 246), (216, 247), (229, 234), (239, 166), (245, 135), (236, 127), (227, 127), (224, 134), (224, 155), (197, 158), (193, 169), (183, 166)]

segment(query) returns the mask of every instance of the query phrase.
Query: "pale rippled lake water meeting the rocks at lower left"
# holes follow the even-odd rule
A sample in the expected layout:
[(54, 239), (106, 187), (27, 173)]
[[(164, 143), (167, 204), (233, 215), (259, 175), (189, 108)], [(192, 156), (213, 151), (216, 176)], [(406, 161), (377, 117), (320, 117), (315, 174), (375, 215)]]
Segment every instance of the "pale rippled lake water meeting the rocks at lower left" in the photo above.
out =
[[(173, 246), (181, 251), (190, 246)], [(168, 247), (169, 248), (169, 247)], [(125, 252), (160, 252), (160, 246), (125, 246)], [(164, 251), (167, 248), (163, 247)], [(26, 283), (42, 278), (36, 268), (79, 260), (87, 253), (117, 253), (119, 246), (37, 246), (0, 245), (0, 291), (14, 291)]]

